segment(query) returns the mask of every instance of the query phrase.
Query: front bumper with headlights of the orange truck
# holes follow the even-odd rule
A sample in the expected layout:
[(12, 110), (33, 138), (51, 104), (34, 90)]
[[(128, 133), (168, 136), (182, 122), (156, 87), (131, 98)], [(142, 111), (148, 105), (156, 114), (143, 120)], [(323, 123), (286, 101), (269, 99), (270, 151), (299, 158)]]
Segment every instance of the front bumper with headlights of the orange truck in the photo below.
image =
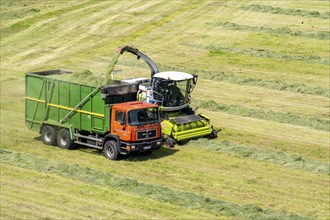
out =
[(153, 140), (143, 141), (143, 142), (121, 142), (121, 152), (131, 153), (131, 152), (145, 152), (151, 150), (159, 149), (163, 144), (162, 138), (157, 138)]

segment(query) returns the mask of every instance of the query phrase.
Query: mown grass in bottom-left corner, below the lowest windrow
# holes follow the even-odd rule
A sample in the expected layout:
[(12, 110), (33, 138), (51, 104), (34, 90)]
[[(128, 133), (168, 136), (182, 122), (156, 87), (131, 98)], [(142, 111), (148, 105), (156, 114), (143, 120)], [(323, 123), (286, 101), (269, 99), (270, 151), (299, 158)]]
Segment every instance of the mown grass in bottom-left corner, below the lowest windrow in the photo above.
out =
[[(51, 172), (1, 164), (2, 218), (212, 218), (201, 210), (159, 202), (118, 190), (110, 185), (90, 184)], [(15, 210), (13, 210), (15, 208)], [(40, 212), (39, 210), (44, 210)], [(77, 213), (79, 210), (79, 214)], [(141, 211), (143, 210), (143, 211)]]

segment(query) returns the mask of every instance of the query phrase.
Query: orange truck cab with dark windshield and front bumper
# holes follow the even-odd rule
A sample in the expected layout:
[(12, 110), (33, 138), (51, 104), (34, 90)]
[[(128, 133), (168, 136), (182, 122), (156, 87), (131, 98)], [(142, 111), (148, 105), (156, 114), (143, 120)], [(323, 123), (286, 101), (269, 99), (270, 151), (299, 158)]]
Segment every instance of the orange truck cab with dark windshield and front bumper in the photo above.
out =
[(132, 101), (111, 107), (110, 134), (118, 136), (120, 151), (151, 152), (161, 146), (158, 106)]

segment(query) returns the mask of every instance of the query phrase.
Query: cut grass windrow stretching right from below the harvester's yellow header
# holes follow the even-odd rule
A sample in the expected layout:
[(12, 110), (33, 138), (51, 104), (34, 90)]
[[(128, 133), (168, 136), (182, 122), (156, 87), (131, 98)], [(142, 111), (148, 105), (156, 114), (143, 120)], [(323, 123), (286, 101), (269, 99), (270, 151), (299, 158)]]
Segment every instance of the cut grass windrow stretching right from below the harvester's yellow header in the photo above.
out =
[(253, 160), (267, 161), (284, 167), (306, 170), (313, 173), (322, 173), (330, 175), (330, 165), (327, 163), (308, 160), (302, 156), (284, 153), (282, 151), (263, 150), (257, 147), (235, 145), (222, 140), (191, 140), (190, 146), (202, 147), (208, 150), (236, 155)]

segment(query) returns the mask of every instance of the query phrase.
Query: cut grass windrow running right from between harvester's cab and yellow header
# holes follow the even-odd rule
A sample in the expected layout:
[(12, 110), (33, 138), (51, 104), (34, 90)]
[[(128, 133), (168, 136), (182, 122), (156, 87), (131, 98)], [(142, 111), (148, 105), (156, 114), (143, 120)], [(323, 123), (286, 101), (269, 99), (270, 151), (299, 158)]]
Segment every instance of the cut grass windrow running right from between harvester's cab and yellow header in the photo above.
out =
[(194, 100), (192, 102), (192, 106), (197, 109), (202, 108), (210, 111), (227, 112), (243, 117), (258, 118), (285, 124), (299, 125), (320, 131), (330, 131), (330, 120), (319, 119), (315, 117), (299, 116), (292, 113), (274, 112), (271, 110), (266, 111), (263, 109), (251, 109), (238, 105), (218, 103), (213, 100)]

